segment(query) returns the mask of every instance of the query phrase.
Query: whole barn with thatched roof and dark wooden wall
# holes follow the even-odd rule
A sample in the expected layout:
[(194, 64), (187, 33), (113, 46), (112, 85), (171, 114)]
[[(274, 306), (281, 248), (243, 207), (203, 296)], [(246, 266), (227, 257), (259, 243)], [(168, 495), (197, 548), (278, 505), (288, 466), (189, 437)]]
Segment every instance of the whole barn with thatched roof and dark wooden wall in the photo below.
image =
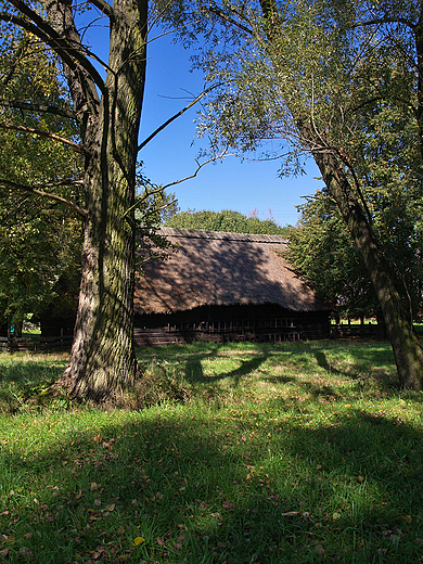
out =
[(136, 342), (285, 341), (329, 335), (329, 307), (281, 254), (275, 235), (163, 228), (178, 252), (143, 266)]

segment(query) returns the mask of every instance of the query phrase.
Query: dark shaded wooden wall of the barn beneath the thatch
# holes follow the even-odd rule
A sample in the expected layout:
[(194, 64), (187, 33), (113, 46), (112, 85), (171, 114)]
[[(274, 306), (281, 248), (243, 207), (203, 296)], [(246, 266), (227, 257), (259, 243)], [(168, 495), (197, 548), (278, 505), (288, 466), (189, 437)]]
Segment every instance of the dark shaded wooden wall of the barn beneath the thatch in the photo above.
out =
[(170, 315), (136, 316), (137, 346), (192, 341), (280, 343), (329, 338), (328, 311), (279, 306), (206, 306)]

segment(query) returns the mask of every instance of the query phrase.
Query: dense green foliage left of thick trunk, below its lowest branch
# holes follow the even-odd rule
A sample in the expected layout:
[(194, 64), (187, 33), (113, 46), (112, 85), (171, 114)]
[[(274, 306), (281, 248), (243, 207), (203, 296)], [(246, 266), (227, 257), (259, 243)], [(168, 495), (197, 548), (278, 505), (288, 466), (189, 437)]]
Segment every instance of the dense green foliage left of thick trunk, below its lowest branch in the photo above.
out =
[[(59, 297), (60, 279), (79, 279), (82, 226), (54, 204), (40, 207), (22, 197), (17, 211), (1, 204), (0, 318), (20, 326)], [(77, 292), (74, 284), (73, 298)]]

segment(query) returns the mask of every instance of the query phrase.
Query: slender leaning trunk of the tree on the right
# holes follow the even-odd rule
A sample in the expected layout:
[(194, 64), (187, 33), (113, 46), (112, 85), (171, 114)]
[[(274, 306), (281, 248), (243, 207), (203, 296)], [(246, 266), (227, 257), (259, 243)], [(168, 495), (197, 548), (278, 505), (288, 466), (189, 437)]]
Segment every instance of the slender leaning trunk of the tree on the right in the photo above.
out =
[(318, 152), (313, 156), (328, 190), (335, 198), (364, 259), (394, 350), (399, 382), (403, 387), (421, 390), (423, 389), (423, 350), (372, 227), (345, 176), (343, 166), (335, 156), (329, 152)]

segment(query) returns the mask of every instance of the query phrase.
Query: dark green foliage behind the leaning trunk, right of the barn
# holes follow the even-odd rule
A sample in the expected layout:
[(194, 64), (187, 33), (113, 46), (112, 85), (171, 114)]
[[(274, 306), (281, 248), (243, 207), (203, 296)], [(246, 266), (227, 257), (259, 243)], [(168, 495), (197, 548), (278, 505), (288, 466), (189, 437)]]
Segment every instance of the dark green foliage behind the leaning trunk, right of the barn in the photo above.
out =
[[(403, 207), (395, 206), (392, 198), (387, 198), (386, 205), (379, 210), (375, 204), (369, 200), (385, 257), (405, 296), (405, 307), (415, 318), (422, 307), (423, 277), (416, 209), (410, 206), (411, 202)], [(317, 192), (299, 206), (299, 211), (298, 225), (290, 234), (286, 252), (290, 262), (319, 294), (336, 305), (338, 315), (379, 317), (377, 298), (363, 260), (332, 200), (324, 192)]]

